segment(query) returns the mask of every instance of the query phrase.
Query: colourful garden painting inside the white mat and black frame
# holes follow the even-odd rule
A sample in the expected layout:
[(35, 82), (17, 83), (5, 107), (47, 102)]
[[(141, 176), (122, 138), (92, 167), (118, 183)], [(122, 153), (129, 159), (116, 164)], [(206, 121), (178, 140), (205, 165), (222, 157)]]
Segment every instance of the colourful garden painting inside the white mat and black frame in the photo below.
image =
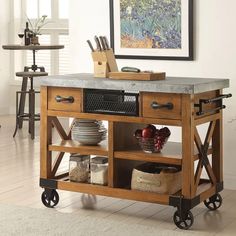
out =
[(120, 0), (121, 48), (181, 49), (181, 0)]

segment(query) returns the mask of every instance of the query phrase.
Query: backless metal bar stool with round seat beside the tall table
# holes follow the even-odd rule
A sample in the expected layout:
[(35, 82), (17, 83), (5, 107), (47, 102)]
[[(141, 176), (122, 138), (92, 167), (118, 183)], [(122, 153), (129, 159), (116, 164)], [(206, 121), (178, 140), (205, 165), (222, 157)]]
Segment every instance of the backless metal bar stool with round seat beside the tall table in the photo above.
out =
[[(22, 128), (23, 121), (29, 121), (29, 133), (31, 135), (31, 139), (34, 139), (35, 136), (35, 121), (40, 120), (40, 115), (35, 114), (35, 94), (40, 93), (39, 91), (34, 90), (33, 86), (33, 78), (39, 76), (47, 76), (48, 73), (44, 71), (44, 68), (40, 69), (43, 71), (27, 71), (28, 68), (25, 67), (25, 71), (23, 72), (16, 72), (16, 76), (22, 77), (22, 86), (21, 91), (16, 91), (16, 127), (13, 134), (15, 137), (17, 130)], [(30, 81), (30, 88), (27, 91), (27, 83), (28, 79)], [(29, 110), (28, 112), (24, 112), (25, 108), (25, 98), (26, 94), (29, 95)], [(20, 102), (19, 102), (20, 96)]]

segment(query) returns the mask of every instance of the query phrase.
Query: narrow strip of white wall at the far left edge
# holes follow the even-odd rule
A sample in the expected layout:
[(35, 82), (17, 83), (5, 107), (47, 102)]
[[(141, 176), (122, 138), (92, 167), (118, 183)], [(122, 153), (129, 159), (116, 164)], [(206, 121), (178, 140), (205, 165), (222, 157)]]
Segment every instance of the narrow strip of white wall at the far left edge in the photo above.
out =
[(2, 49), (2, 45), (8, 43), (9, 10), (9, 1), (0, 0), (0, 114), (9, 112), (10, 54)]

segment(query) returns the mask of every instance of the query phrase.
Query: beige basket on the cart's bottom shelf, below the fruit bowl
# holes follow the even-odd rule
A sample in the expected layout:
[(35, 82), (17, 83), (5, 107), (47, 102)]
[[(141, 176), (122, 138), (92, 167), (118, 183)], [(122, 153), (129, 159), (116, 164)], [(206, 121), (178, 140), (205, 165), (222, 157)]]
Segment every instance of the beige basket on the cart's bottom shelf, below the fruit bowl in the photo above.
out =
[(131, 189), (161, 194), (174, 194), (181, 189), (181, 171), (173, 169), (163, 169), (159, 174), (141, 165), (133, 169)]

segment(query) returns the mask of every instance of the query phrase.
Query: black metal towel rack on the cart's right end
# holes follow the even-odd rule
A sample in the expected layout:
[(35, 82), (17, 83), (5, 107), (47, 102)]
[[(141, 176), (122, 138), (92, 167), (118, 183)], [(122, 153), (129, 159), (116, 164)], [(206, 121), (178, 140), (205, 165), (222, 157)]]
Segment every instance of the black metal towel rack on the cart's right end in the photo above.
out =
[[(199, 99), (199, 104), (194, 104), (194, 107), (199, 108), (199, 111), (196, 112), (196, 115), (201, 116), (201, 115), (204, 115), (205, 113), (211, 113), (211, 112), (220, 111), (222, 109), (225, 109), (226, 106), (222, 104), (222, 100), (224, 98), (230, 98), (230, 97), (232, 97), (231, 93), (222, 94), (219, 97), (215, 97), (215, 98), (211, 98), (211, 99)], [(211, 109), (211, 110), (203, 111), (203, 104), (210, 104), (210, 103), (216, 103), (216, 102), (218, 102), (218, 104), (219, 104), (218, 107)]]

